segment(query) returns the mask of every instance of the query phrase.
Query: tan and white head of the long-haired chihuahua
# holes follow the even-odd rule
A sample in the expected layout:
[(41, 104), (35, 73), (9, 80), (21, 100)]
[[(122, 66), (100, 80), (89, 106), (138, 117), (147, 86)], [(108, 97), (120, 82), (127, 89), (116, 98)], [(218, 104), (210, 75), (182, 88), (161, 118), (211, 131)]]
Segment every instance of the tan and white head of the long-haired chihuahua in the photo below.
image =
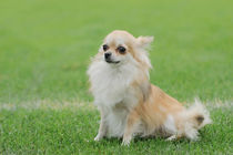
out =
[(146, 49), (152, 41), (153, 37), (134, 38), (126, 31), (115, 30), (105, 37), (99, 52), (108, 65), (120, 66), (134, 61), (150, 68)]

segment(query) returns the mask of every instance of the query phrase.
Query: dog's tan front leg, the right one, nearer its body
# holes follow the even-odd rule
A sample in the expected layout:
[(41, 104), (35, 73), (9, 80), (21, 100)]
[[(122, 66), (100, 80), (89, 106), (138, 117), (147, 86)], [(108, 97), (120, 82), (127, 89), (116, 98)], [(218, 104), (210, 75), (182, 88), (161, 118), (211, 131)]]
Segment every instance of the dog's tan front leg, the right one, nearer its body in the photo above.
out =
[(122, 145), (130, 145), (130, 141), (132, 140), (133, 133), (136, 131), (139, 124), (140, 116), (135, 111), (132, 111), (128, 115)]

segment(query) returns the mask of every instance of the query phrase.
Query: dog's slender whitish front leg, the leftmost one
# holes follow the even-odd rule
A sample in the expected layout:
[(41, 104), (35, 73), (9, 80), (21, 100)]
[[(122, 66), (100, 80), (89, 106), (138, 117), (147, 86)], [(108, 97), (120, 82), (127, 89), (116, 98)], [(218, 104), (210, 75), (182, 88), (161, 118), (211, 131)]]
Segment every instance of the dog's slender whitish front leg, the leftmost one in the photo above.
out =
[(100, 110), (100, 114), (101, 114), (100, 127), (99, 127), (98, 135), (94, 137), (94, 141), (102, 140), (107, 135), (107, 132), (108, 132), (108, 125), (105, 122), (105, 112), (103, 110)]

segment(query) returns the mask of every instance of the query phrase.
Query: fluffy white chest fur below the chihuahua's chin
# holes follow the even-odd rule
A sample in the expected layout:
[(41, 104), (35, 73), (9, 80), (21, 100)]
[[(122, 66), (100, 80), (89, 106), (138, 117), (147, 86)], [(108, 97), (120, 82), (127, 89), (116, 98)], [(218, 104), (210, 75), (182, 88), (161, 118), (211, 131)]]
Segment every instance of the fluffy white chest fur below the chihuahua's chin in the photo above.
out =
[(105, 62), (92, 64), (89, 69), (94, 104), (99, 106), (114, 106), (120, 102), (133, 103), (134, 90), (131, 84), (136, 76), (136, 69), (125, 64), (113, 68)]

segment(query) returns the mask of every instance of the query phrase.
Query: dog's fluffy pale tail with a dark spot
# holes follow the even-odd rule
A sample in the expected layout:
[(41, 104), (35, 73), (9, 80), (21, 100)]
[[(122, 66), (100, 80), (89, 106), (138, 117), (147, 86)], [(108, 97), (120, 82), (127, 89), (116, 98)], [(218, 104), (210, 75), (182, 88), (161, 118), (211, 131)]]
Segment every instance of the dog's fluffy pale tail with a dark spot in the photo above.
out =
[(190, 140), (196, 140), (199, 134), (197, 130), (211, 123), (212, 120), (210, 118), (209, 111), (200, 100), (195, 99), (194, 104), (185, 112), (185, 135)]

